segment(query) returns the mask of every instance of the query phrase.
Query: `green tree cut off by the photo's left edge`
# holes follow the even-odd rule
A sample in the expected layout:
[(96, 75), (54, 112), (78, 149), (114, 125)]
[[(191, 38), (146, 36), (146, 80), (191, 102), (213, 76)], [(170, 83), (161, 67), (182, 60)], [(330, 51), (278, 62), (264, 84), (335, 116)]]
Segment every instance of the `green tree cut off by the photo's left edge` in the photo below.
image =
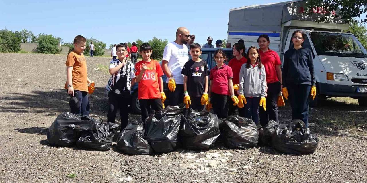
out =
[(0, 52), (21, 51), (21, 39), (11, 30), (0, 30)]

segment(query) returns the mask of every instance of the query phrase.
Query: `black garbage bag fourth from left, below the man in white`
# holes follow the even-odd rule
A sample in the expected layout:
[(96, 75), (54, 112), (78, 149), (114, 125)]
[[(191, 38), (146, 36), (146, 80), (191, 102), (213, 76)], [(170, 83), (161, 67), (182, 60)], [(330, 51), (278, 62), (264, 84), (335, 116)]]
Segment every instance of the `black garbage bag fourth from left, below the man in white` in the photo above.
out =
[(183, 107), (168, 106), (152, 112), (145, 122), (145, 139), (156, 153), (168, 153), (176, 149)]

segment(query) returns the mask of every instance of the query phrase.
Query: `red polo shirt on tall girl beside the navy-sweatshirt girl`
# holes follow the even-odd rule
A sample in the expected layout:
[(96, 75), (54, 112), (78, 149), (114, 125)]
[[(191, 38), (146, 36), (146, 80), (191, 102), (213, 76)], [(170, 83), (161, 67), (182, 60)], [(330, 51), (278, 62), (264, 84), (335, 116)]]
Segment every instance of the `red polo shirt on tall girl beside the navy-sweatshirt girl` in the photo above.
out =
[(260, 52), (261, 63), (265, 67), (266, 83), (269, 84), (269, 83), (278, 82), (279, 79), (278, 79), (278, 75), (275, 69), (275, 66), (281, 65), (280, 57), (278, 53), (276, 53), (275, 51), (272, 51), (271, 49), (269, 49), (266, 52), (263, 52), (261, 51), (261, 49), (259, 49), (259, 52)]

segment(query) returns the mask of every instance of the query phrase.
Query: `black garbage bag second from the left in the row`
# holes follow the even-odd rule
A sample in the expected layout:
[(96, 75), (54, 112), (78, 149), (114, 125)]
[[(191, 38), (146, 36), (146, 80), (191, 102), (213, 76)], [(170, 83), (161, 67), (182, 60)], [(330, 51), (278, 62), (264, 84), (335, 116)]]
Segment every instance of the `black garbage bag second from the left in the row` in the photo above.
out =
[(79, 133), (79, 139), (76, 146), (91, 150), (110, 150), (112, 147), (112, 138), (120, 126), (115, 123), (101, 123), (97, 131), (82, 131)]

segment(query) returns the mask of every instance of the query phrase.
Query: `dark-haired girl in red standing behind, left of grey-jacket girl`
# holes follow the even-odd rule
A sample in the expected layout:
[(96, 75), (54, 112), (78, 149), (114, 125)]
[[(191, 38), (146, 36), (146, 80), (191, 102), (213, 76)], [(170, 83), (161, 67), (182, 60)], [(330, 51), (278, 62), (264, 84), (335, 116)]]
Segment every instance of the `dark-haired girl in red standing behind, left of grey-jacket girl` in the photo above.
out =
[[(229, 60), (228, 66), (232, 68), (233, 72), (233, 89), (235, 90), (235, 95), (238, 97), (237, 90), (239, 89), (238, 83), (239, 83), (239, 76), (240, 76), (240, 70), (242, 64), (247, 62), (247, 56), (245, 53), (246, 46), (243, 43), (237, 42), (233, 45), (232, 53), (233, 53), (233, 59)], [(232, 104), (232, 105), (231, 105)], [(236, 112), (236, 105), (233, 105), (232, 101), (229, 101), (228, 106), (228, 115), (234, 115)], [(238, 108), (238, 115), (241, 117), (244, 116), (244, 108)]]

